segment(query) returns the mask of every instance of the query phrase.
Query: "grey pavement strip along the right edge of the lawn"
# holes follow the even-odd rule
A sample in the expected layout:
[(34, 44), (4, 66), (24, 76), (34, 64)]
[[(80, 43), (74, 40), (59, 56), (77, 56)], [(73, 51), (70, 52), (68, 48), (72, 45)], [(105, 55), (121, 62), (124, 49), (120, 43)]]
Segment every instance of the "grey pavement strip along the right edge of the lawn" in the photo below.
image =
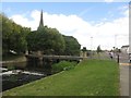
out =
[(131, 98), (131, 63), (129, 63), (129, 56), (120, 53), (120, 96), (129, 96)]

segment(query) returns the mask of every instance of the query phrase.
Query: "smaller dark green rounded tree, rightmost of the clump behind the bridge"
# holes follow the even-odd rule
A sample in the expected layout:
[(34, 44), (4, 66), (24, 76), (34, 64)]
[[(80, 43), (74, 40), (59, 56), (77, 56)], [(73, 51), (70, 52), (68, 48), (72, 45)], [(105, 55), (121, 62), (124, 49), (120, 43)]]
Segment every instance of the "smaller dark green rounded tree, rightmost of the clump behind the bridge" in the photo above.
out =
[(64, 50), (64, 54), (67, 56), (79, 56), (80, 54), (80, 48), (81, 45), (79, 44), (79, 41), (72, 37), (72, 36), (64, 36), (64, 41), (66, 41), (66, 50)]

